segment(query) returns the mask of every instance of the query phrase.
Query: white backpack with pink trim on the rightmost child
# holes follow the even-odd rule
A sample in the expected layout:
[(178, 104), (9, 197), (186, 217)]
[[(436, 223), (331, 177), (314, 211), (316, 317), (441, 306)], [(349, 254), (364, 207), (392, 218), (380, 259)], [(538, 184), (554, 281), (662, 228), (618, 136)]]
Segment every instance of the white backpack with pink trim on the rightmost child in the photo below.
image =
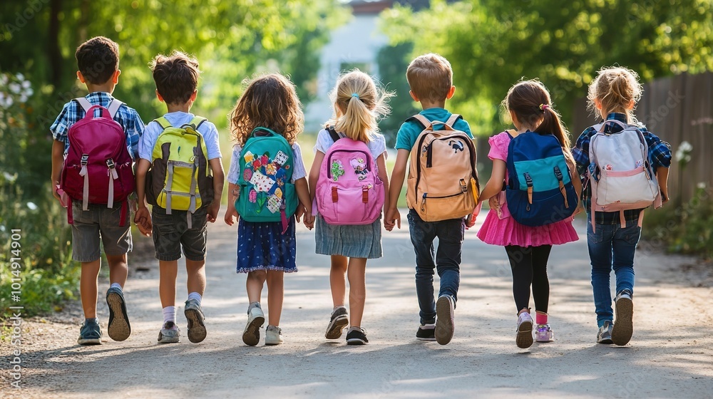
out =
[[(623, 130), (604, 133), (607, 123)], [(624, 211), (653, 205), (661, 207), (661, 193), (649, 160), (649, 147), (642, 131), (634, 125), (607, 120), (596, 125), (597, 133), (589, 145), (589, 184), (592, 187), (592, 225), (596, 212), (620, 212), (626, 227)], [(639, 215), (641, 226), (644, 212)]]

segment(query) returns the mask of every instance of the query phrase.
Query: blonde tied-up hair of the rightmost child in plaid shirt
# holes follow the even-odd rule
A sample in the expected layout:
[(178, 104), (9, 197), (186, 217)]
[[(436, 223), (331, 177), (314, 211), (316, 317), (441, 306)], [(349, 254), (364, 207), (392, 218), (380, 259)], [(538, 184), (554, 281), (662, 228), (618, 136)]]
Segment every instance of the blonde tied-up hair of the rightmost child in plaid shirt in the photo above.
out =
[(641, 99), (642, 91), (635, 71), (619, 66), (603, 67), (589, 85), (588, 109), (596, 115), (597, 101), (602, 105), (602, 114), (623, 113), (629, 122), (637, 123), (634, 108)]

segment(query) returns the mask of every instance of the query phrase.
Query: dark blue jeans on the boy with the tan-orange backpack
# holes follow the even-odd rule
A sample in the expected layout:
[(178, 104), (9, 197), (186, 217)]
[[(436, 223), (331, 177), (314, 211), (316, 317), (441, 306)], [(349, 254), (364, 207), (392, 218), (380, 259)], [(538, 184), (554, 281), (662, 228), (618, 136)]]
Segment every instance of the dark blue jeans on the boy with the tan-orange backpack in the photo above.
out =
[[(461, 248), (466, 224), (463, 219), (424, 222), (414, 209), (409, 210), (409, 232), (416, 251), (416, 296), (419, 297), (421, 324), (436, 322), (434, 269), (441, 278), (438, 296), (450, 295), (453, 302), (461, 284)], [(438, 249), (434, 240), (438, 237)]]

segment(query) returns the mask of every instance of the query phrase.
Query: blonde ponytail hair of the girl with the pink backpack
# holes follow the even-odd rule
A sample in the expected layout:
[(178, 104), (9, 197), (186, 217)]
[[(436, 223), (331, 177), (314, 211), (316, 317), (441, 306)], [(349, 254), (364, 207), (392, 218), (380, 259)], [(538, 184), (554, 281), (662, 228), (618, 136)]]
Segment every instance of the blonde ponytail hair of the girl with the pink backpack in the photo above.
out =
[(344, 74), (337, 80), (329, 97), (334, 103), (334, 117), (327, 122), (352, 140), (369, 142), (379, 132), (377, 119), (389, 115), (386, 104), (393, 93), (379, 93), (371, 76), (359, 69)]

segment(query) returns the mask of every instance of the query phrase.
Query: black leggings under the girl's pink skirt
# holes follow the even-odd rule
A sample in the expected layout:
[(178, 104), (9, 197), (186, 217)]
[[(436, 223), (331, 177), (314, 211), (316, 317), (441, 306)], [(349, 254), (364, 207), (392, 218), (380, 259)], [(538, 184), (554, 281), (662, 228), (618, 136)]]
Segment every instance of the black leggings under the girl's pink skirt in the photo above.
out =
[(551, 245), (540, 247), (505, 247), (513, 269), (513, 295), (518, 312), (530, 306), (530, 286), (533, 287), (535, 311), (547, 313), (550, 301), (550, 281), (547, 279), (547, 259)]

